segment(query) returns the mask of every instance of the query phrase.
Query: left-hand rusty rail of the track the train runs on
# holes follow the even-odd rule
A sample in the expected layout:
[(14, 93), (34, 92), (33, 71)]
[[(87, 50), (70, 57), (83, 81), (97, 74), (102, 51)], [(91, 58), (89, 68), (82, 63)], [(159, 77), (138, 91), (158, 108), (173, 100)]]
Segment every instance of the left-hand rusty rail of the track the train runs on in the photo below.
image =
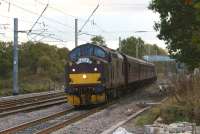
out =
[(45, 122), (45, 121), (51, 120), (51, 119), (56, 118), (56, 117), (63, 116), (63, 115), (68, 114), (72, 111), (74, 111), (74, 108), (71, 107), (67, 110), (57, 112), (55, 114), (51, 114), (51, 115), (48, 115), (46, 117), (42, 117), (42, 118), (27, 122), (27, 123), (22, 123), (20, 125), (16, 125), (14, 127), (10, 127), (8, 129), (2, 130), (2, 131), (0, 131), (0, 134), (17, 133), (20, 130), (26, 129), (28, 127), (31, 127), (31, 126), (34, 126), (34, 125), (37, 125), (37, 124), (40, 124), (41, 122)]

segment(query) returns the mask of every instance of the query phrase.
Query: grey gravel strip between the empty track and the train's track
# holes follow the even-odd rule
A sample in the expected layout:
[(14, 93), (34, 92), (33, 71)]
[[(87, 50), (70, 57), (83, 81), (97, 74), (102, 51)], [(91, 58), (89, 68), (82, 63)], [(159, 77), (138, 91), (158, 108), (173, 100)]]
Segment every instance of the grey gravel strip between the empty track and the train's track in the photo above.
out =
[(61, 104), (41, 110), (35, 110), (33, 112), (17, 113), (14, 115), (2, 117), (0, 118), (0, 130), (4, 130), (15, 125), (19, 125), (21, 123), (25, 123), (56, 112), (60, 112), (62, 110), (68, 109), (69, 107), (70, 106), (68, 104)]

